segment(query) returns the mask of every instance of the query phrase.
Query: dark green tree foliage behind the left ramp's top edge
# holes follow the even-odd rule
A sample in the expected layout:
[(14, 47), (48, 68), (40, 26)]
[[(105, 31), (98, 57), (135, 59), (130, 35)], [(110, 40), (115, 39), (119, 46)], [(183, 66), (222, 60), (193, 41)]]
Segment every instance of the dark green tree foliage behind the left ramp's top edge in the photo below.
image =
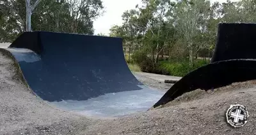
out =
[[(33, 31), (93, 35), (93, 20), (102, 14), (101, 0), (42, 0), (33, 11)], [(26, 31), (24, 0), (0, 2), (0, 42), (12, 42)]]

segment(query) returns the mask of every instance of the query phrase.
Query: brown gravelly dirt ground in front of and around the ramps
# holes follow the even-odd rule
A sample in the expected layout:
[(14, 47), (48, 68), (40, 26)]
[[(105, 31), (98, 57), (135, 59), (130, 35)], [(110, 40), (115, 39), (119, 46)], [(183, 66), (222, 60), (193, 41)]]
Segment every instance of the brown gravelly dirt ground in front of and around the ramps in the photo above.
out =
[[(142, 76), (138, 79), (168, 89), (164, 83)], [(192, 91), (159, 109), (123, 118), (88, 118), (35, 97), (20, 81), (13, 61), (0, 52), (0, 134), (256, 134), (255, 82), (234, 83), (213, 93)], [(225, 113), (231, 104), (248, 108), (244, 127), (235, 129), (226, 123)]]

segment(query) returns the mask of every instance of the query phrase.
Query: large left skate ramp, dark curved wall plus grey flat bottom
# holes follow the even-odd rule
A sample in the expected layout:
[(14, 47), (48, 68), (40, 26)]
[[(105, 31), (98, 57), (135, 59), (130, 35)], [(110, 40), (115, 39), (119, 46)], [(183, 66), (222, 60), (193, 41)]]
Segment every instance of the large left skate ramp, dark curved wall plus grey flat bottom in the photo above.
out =
[(164, 94), (134, 77), (121, 38), (35, 31), (20, 35), (6, 51), (35, 95), (63, 109), (127, 115), (147, 110)]

